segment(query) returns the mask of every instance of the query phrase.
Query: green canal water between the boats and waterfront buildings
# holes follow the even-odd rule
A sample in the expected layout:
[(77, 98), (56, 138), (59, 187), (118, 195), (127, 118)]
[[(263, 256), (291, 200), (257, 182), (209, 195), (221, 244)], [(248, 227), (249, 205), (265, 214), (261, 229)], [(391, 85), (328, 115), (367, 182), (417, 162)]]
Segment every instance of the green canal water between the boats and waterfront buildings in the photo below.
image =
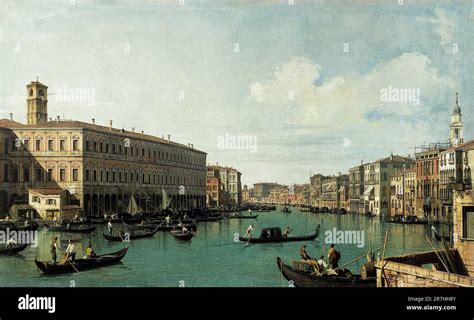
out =
[[(292, 235), (312, 233), (318, 224), (321, 232), (318, 239), (307, 242), (281, 244), (246, 244), (236, 242), (236, 234), (243, 234), (251, 223), (256, 224), (258, 234), (264, 227), (289, 226)], [(117, 225), (115, 229), (119, 229)], [(385, 232), (388, 230), (389, 245), (386, 256), (430, 250), (425, 235), (430, 234), (428, 225), (400, 225), (368, 218), (357, 214), (330, 215), (300, 212), (293, 208), (292, 213), (279, 210), (260, 213), (255, 220), (230, 219), (220, 222), (198, 224), (198, 231), (190, 242), (179, 242), (169, 232), (158, 232), (153, 238), (132, 240), (130, 243), (107, 242), (102, 237), (105, 226), (101, 225), (91, 235), (72, 235), (82, 237), (76, 244), (77, 256), (89, 242), (98, 254), (118, 251), (130, 247), (121, 263), (79, 274), (60, 276), (43, 275), (33, 260), (50, 260), (49, 242), (55, 233), (42, 228), (38, 231), (39, 245), (28, 247), (16, 256), (0, 257), (0, 286), (31, 287), (280, 287), (288, 286), (282, 278), (276, 257), (286, 262), (299, 259), (301, 245), (307, 245), (310, 256), (326, 254), (326, 231), (350, 230), (364, 231), (364, 244), (336, 244), (341, 252), (340, 265), (367, 253), (369, 243), (372, 249), (383, 246)], [(116, 232), (117, 230), (115, 230)], [(57, 233), (65, 239), (64, 235)], [(359, 234), (362, 235), (362, 234)], [(369, 241), (370, 240), (370, 241)], [(432, 240), (434, 241), (434, 239)], [(434, 241), (435, 242), (435, 241)], [(435, 244), (436, 245), (436, 244)], [(66, 243), (63, 243), (63, 249)], [(59, 255), (58, 255), (59, 256)], [(359, 271), (366, 260), (350, 265), (348, 268)]]

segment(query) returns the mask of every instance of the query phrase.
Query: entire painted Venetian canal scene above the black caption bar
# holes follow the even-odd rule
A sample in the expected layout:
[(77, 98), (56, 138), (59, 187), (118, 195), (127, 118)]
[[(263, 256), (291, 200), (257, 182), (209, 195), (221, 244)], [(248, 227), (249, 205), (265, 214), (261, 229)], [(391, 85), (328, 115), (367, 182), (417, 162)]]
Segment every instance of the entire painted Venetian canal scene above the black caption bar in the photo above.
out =
[(467, 0), (1, 1), (0, 288), (473, 288), (473, 34)]

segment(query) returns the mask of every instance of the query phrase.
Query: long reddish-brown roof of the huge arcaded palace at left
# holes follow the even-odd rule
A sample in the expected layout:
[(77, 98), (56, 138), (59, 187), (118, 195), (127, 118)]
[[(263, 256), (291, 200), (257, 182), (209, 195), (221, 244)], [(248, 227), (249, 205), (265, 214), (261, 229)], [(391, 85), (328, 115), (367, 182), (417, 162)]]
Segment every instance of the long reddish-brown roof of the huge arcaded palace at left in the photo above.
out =
[(132, 132), (132, 131), (127, 131), (124, 129), (117, 129), (117, 128), (112, 128), (106, 127), (106, 126), (100, 126), (92, 123), (87, 123), (87, 122), (82, 122), (82, 121), (76, 121), (76, 120), (60, 120), (60, 121), (48, 121), (44, 124), (35, 124), (35, 125), (25, 125), (19, 122), (15, 121), (10, 121), (8, 119), (1, 119), (0, 120), (0, 127), (6, 127), (10, 129), (88, 129), (88, 130), (94, 130), (94, 131), (99, 131), (102, 133), (109, 133), (113, 134), (115, 136), (121, 136), (124, 138), (131, 138), (131, 139), (139, 139), (139, 140), (146, 140), (150, 142), (159, 142), (163, 144), (170, 144), (174, 146), (179, 146), (181, 148), (189, 149), (192, 151), (196, 151), (199, 153), (205, 153), (201, 150), (197, 150), (194, 148), (190, 148), (187, 145), (181, 144), (181, 143), (176, 143), (176, 142), (168, 142), (166, 139), (161, 139), (149, 134), (142, 134), (138, 132)]

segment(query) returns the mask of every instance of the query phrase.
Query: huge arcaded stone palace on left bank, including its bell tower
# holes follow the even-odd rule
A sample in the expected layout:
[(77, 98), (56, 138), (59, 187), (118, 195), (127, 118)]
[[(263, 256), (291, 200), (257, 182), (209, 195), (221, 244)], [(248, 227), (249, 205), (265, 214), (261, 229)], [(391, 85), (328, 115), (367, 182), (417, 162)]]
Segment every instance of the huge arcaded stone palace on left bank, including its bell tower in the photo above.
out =
[[(133, 195), (146, 211), (202, 208), (206, 153), (143, 132), (48, 119), (48, 87), (27, 85), (27, 124), (0, 119), (0, 215), (28, 201), (31, 189), (64, 190), (86, 215), (125, 210)], [(165, 192), (163, 192), (165, 190)]]

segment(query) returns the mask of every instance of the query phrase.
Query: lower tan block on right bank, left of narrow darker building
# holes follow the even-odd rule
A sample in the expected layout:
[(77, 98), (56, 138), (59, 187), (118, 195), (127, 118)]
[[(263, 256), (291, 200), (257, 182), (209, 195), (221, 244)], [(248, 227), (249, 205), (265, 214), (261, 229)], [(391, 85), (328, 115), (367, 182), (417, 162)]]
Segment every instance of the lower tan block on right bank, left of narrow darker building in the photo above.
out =
[(321, 207), (337, 209), (347, 206), (348, 185), (349, 176), (347, 174), (339, 174), (324, 179), (322, 182)]

